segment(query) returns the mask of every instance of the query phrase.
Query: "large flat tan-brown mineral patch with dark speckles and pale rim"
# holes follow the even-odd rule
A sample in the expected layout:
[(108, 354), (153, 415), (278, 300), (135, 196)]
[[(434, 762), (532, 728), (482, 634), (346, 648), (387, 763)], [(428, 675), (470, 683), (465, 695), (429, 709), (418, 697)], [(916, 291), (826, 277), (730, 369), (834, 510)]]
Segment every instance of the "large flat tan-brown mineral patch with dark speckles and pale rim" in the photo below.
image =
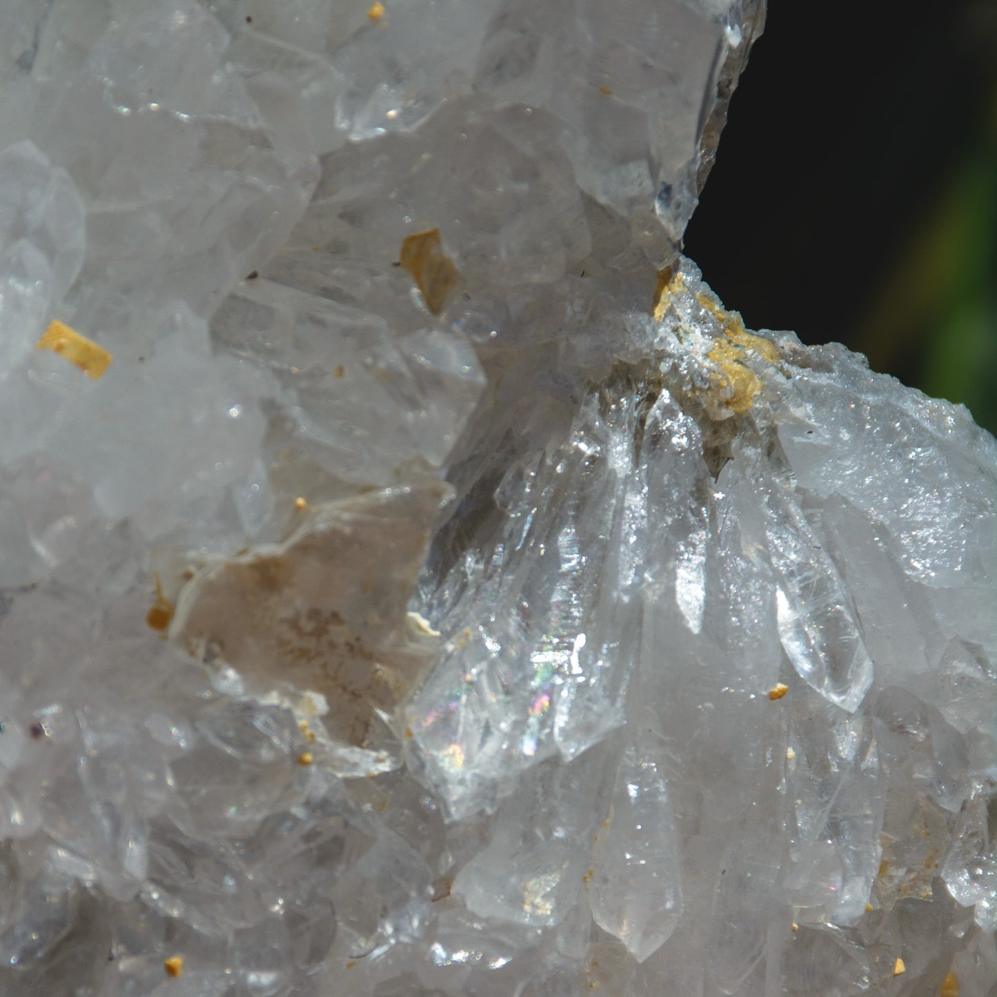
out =
[(205, 564), (170, 638), (257, 685), (321, 693), (326, 728), (362, 746), (373, 711), (391, 709), (433, 655), (409, 636), (406, 596), (446, 497), (432, 482), (312, 506), (283, 543)]

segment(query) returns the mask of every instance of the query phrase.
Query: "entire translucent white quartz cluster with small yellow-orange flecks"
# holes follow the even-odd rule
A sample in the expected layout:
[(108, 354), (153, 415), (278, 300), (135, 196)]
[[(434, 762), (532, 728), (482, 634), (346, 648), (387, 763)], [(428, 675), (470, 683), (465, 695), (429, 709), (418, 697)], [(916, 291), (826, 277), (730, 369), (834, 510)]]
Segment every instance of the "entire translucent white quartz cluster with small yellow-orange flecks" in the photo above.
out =
[(679, 255), (763, 15), (0, 5), (0, 993), (997, 995), (997, 445)]

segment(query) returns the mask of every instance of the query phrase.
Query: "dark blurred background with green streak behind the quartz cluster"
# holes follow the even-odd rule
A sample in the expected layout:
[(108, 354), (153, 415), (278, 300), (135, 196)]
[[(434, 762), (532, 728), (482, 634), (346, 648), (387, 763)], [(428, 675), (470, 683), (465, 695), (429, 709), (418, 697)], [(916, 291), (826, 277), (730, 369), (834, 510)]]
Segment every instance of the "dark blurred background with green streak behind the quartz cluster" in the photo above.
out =
[(770, 0), (685, 251), (997, 433), (997, 0)]

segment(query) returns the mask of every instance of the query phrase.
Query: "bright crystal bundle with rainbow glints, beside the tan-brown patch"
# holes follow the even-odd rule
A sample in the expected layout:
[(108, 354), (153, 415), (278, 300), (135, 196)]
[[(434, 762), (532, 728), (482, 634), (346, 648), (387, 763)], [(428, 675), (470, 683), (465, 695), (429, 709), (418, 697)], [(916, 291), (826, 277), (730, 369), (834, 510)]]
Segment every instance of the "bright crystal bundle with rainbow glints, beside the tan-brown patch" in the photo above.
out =
[(510, 469), (497, 492), (506, 529), (441, 584), (433, 619), (449, 646), (404, 716), (455, 816), (490, 806), (500, 778), (571, 757), (622, 721), (635, 651), (627, 550), (642, 534), (637, 418), (636, 398), (601, 412), (590, 398), (552, 459)]

